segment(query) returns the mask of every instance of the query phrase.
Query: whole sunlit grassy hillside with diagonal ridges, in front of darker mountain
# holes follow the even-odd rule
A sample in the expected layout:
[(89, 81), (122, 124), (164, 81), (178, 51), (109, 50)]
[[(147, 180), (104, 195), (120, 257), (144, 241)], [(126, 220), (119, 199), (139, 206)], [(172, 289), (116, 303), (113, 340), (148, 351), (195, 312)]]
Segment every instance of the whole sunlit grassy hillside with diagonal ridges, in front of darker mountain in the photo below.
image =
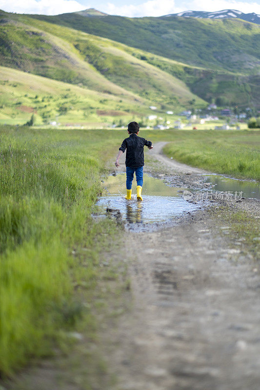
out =
[(197, 106), (205, 104), (183, 81), (134, 58), (124, 45), (26, 16), (5, 16), (0, 26), (0, 59), (5, 66), (140, 102), (145, 99), (147, 107), (150, 102), (180, 108), (193, 99)]

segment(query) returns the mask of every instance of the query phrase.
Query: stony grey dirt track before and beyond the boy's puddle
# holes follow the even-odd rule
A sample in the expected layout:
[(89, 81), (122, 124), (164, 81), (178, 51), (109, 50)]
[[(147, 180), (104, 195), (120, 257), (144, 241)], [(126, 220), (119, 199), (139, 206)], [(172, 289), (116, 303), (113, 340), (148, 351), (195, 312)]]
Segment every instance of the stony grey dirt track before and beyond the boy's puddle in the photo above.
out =
[[(160, 155), (162, 146), (153, 159), (168, 175), (201, 181), (205, 171)], [(165, 230), (125, 234), (133, 306), (110, 335), (113, 389), (260, 389), (260, 275), (241, 242), (220, 234), (228, 228), (202, 209)]]

